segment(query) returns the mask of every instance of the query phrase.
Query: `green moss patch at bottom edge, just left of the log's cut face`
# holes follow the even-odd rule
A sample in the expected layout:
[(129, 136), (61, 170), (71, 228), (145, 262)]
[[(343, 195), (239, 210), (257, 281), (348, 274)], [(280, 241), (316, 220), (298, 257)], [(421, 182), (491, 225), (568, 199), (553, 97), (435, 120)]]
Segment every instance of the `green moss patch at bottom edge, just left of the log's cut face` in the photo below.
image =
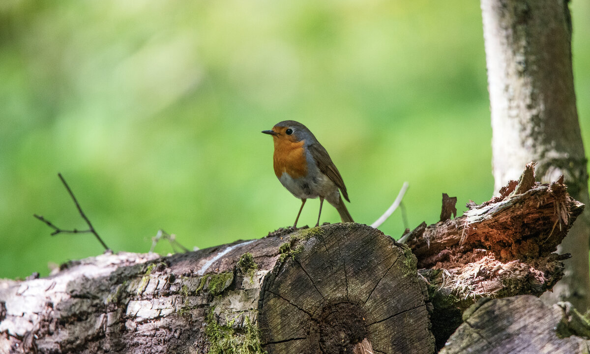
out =
[(208, 354), (265, 354), (266, 350), (260, 345), (260, 330), (245, 316), (244, 327), (233, 327), (236, 316), (227, 325), (221, 325), (215, 320), (214, 308), (205, 318), (205, 334), (209, 339)]

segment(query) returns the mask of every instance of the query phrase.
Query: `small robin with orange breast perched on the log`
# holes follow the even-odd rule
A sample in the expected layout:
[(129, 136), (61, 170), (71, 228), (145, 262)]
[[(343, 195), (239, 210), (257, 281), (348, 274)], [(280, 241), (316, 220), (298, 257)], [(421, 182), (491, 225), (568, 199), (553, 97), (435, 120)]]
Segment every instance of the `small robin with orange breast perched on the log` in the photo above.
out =
[(342, 192), (344, 199), (350, 202), (342, 176), (326, 149), (306, 126), (294, 120), (284, 120), (273, 130), (263, 130), (263, 133), (273, 136), (274, 174), (287, 191), (301, 199), (294, 228), (307, 199), (317, 197), (320, 198), (320, 212), (316, 227), (320, 224), (324, 199), (336, 208), (342, 222), (353, 222), (340, 197)]

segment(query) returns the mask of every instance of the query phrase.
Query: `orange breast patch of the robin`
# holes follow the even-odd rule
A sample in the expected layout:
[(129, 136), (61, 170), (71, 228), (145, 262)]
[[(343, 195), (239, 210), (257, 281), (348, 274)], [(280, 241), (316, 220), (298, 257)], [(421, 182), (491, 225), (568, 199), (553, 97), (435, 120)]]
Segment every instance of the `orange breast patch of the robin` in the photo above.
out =
[(307, 175), (307, 160), (303, 149), (304, 140), (291, 142), (288, 139), (274, 140), (274, 174), (281, 178), (284, 172), (291, 178)]

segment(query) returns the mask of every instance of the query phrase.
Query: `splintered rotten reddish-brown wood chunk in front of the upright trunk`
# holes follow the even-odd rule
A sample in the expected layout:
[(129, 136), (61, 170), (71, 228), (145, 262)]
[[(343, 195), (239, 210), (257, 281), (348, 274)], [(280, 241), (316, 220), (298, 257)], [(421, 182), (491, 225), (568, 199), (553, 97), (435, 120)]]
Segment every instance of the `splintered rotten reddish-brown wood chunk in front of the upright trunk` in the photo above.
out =
[[(568, 255), (553, 253), (584, 205), (562, 179), (535, 183), (529, 165), (498, 197), (473, 202), (461, 217), (422, 224), (404, 235), (429, 283), (437, 347), (461, 324), (461, 313), (481, 297), (540, 296), (563, 276)], [(443, 205), (443, 208), (448, 205)]]

